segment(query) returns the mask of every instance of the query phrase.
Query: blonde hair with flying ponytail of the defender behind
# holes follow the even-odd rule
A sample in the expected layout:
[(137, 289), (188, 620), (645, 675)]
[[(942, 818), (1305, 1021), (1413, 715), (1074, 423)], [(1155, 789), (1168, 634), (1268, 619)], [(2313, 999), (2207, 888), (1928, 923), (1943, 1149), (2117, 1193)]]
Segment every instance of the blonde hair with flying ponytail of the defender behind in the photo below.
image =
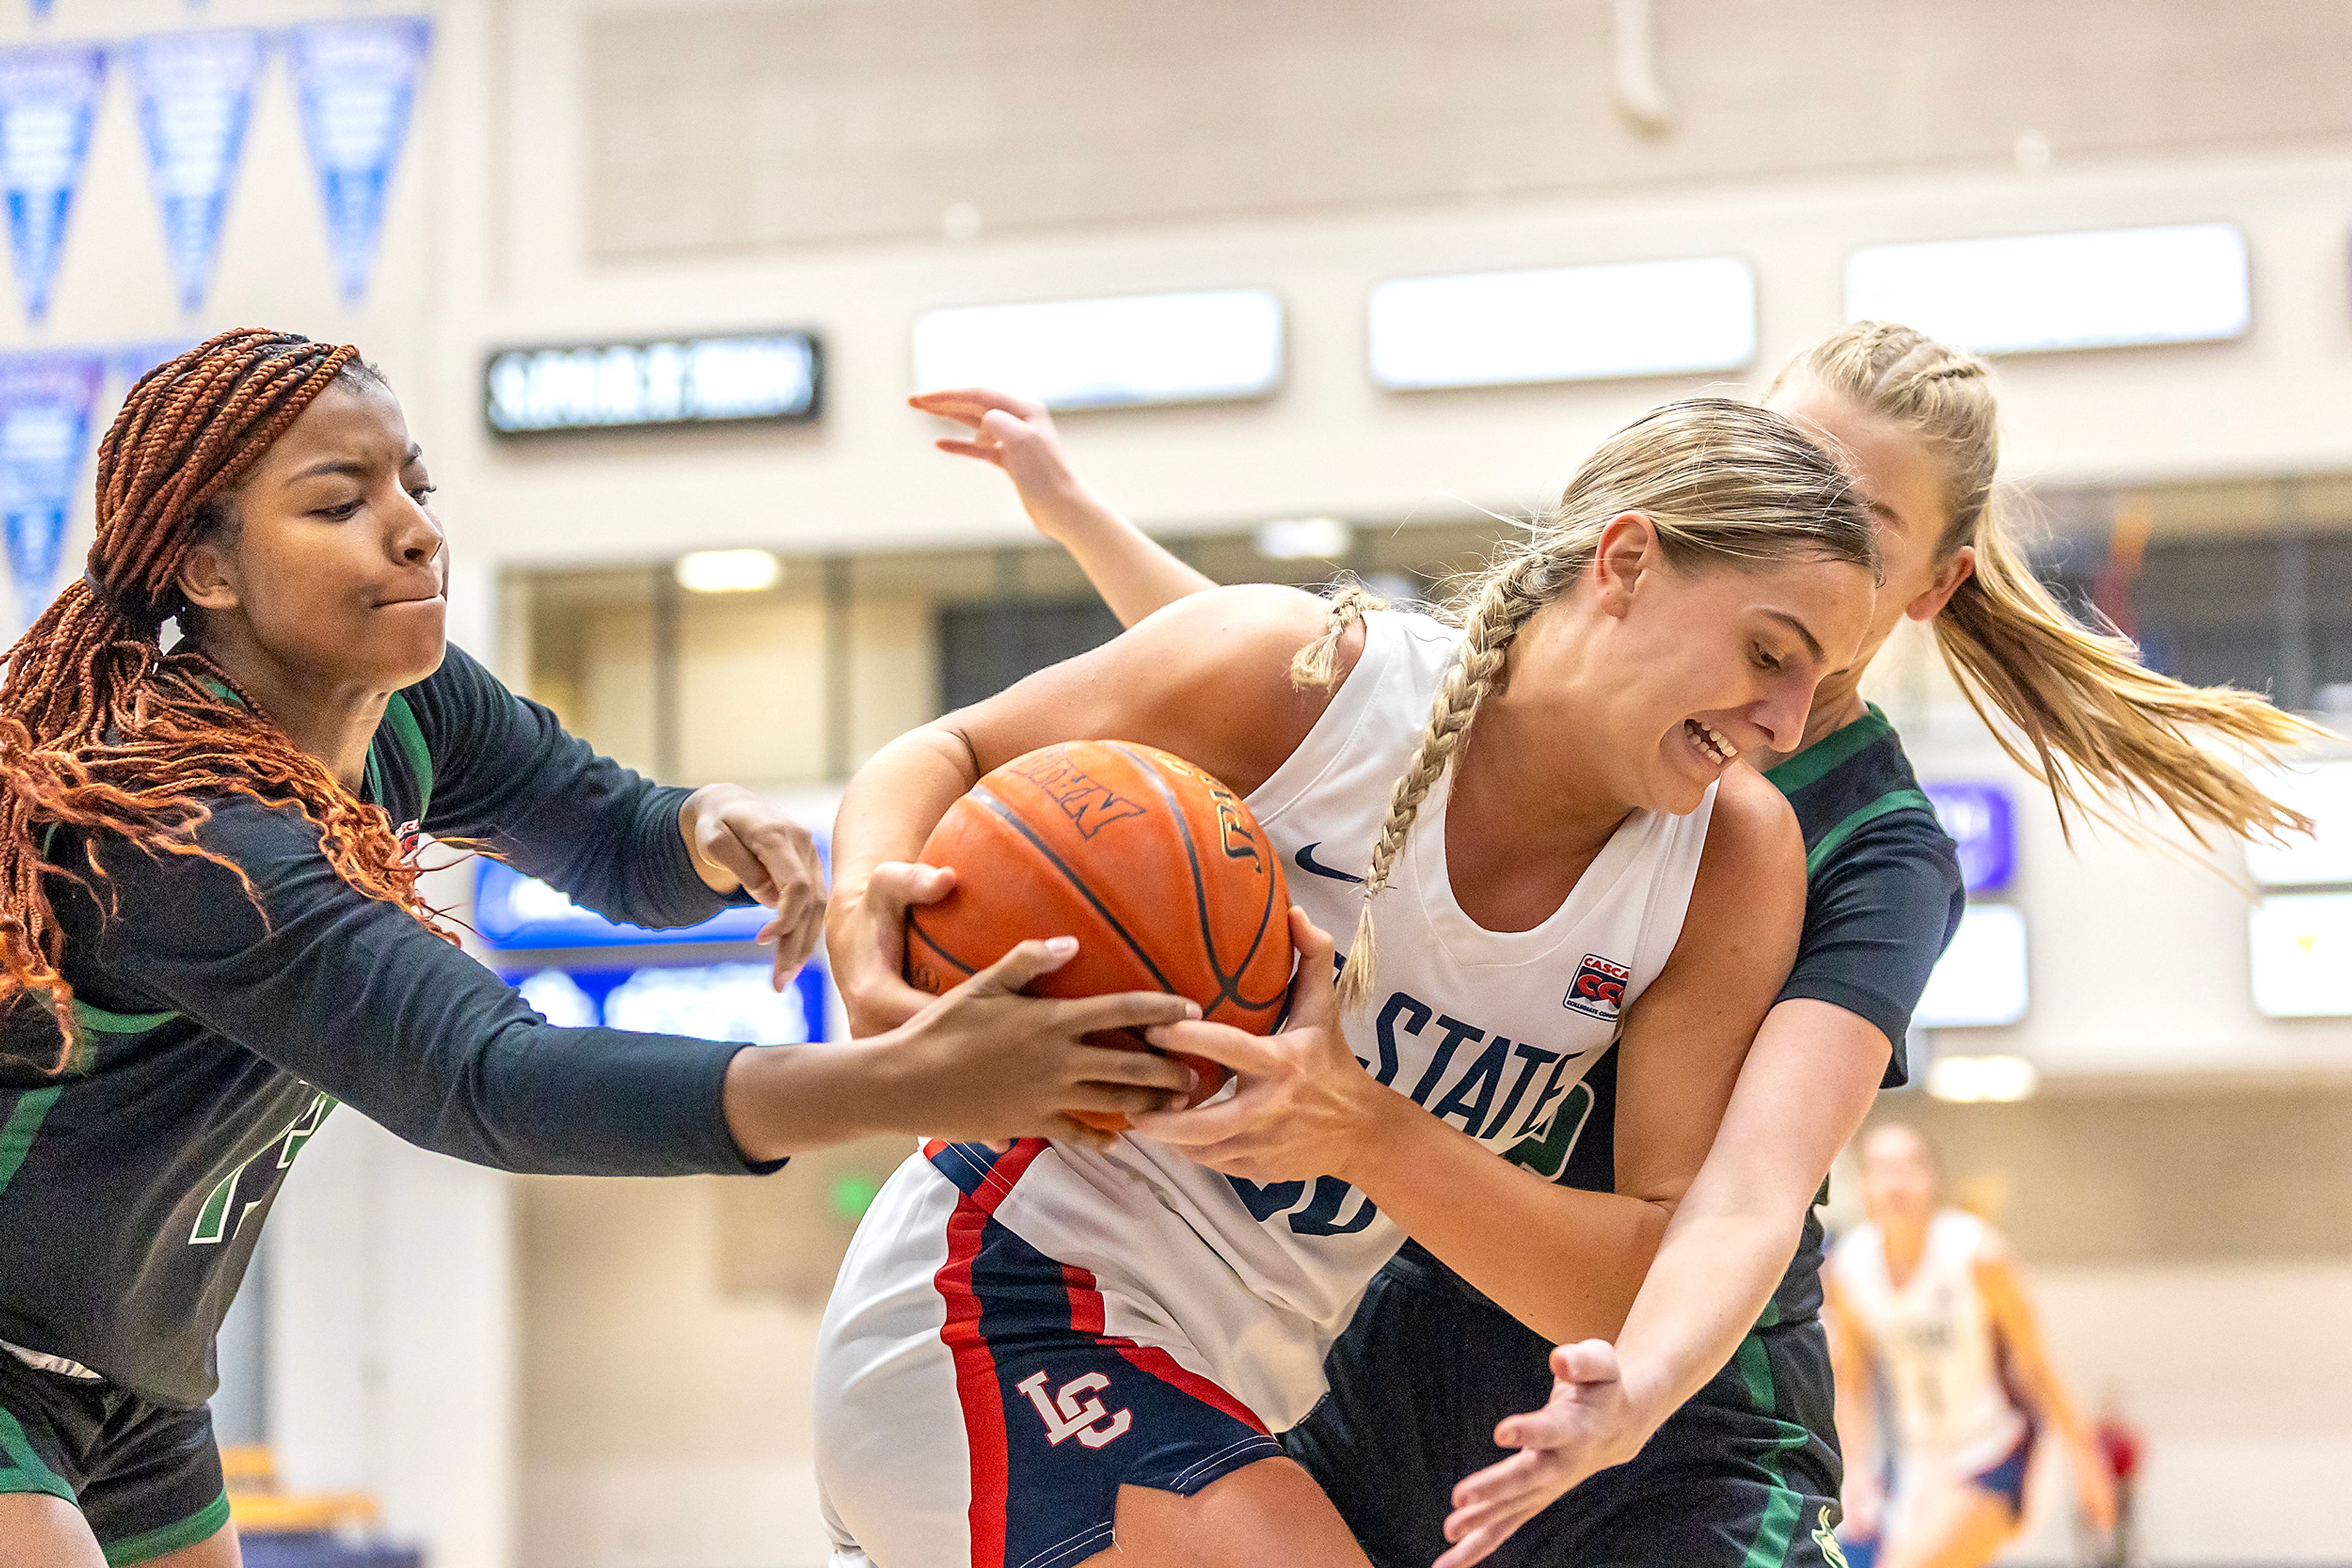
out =
[(1936, 616), (1936, 642), (2002, 750), (2049, 788), (2067, 837), (2067, 809), (2136, 832), (2114, 809), (2133, 802), (2164, 806), (2199, 842), (2211, 827), (2237, 837), (2307, 832), (2303, 813), (2201, 741), (2270, 757), (2324, 729), (2251, 691), (2157, 675), (2131, 639), (2084, 625), (2034, 576), (1994, 505), (1990, 374), (1976, 355), (1910, 327), (1856, 322), (1799, 355), (1773, 390), (1804, 376), (1933, 447), (1952, 508), (1936, 557), (1976, 548), (1976, 574)]

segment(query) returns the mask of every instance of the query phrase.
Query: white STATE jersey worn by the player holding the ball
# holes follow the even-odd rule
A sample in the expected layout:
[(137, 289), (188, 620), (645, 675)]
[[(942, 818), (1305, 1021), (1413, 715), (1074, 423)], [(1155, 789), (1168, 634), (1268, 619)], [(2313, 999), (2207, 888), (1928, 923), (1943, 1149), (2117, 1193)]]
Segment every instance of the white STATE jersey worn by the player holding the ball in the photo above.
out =
[[(1367, 616), (1364, 656), (1249, 806), (1287, 860), (1291, 900), (1341, 940), (1362, 875), (1461, 632)], [(1376, 917), (1374, 1004), (1345, 1020), (1374, 1077), (1494, 1150), (1543, 1135), (1658, 976), (1705, 849), (1715, 790), (1689, 816), (1637, 811), (1566, 903), (1531, 931), (1486, 931), (1446, 879), (1446, 783), (1430, 790)], [(1322, 1359), (1404, 1241), (1345, 1182), (1258, 1187), (1148, 1138), (1054, 1145), (995, 1211), (1030, 1246), (1091, 1269), (1110, 1333), (1164, 1345), (1270, 1429), (1322, 1396)]]

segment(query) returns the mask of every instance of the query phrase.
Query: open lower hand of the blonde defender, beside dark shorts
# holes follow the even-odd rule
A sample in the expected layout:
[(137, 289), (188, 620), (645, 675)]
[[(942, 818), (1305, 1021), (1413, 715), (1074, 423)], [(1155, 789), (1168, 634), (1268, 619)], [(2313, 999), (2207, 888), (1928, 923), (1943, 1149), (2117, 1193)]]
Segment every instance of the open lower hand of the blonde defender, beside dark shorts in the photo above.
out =
[(1651, 1427), (1625, 1392), (1609, 1340), (1557, 1347), (1552, 1396), (1541, 1410), (1512, 1415), (1494, 1429), (1496, 1443), (1519, 1453), (1454, 1488), (1454, 1512), (1446, 1514), (1454, 1549), (1437, 1559), (1437, 1568), (1484, 1561), (1571, 1486), (1637, 1455)]

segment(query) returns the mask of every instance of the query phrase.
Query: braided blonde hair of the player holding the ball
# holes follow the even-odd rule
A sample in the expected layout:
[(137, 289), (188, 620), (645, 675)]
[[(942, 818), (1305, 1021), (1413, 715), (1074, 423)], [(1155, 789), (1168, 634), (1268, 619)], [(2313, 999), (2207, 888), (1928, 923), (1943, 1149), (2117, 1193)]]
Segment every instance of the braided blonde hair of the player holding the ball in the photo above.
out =
[[(1388, 792), (1388, 816), (1364, 872), (1364, 903), (1348, 964), (1343, 1009), (1371, 999), (1376, 931), (1371, 905), (1388, 889), (1430, 790), (1461, 757), (1479, 703), (1510, 677), (1510, 649), (1545, 604), (1562, 597), (1621, 515), (1649, 517), (1672, 567), (1759, 567), (1839, 559), (1877, 571), (1877, 534), (1839, 461), (1792, 421), (1726, 397), (1689, 397), (1651, 409), (1604, 440), (1566, 494), (1526, 536), (1505, 548), (1458, 595), (1461, 646), (1430, 703), (1428, 729)], [(1291, 661), (1301, 686), (1329, 686), (1338, 642), (1381, 602), (1348, 583), (1331, 602), (1324, 635)]]

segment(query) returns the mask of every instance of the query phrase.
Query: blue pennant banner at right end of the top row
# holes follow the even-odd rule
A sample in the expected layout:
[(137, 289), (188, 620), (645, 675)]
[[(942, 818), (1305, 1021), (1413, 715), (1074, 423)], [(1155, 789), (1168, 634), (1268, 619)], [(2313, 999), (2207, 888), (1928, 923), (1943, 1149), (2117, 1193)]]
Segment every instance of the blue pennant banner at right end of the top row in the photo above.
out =
[(383, 195), (430, 49), (433, 24), (423, 16), (310, 21), (287, 31), (287, 66), (327, 202), (327, 249), (348, 303), (367, 294)]

